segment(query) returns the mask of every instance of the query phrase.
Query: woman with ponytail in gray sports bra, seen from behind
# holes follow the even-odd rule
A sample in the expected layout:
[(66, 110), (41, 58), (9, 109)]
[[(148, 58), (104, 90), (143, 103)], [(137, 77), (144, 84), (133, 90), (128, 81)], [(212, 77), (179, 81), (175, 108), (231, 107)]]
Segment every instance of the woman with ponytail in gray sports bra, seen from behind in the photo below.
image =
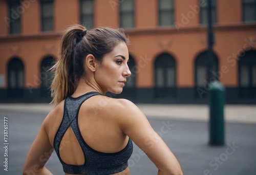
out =
[(127, 160), (138, 145), (159, 169), (182, 174), (180, 165), (150, 123), (131, 101), (104, 96), (120, 94), (131, 75), (128, 39), (121, 30), (68, 28), (60, 38), (53, 67), (55, 108), (31, 146), (23, 174), (51, 174), (44, 166), (55, 149), (66, 174), (130, 174)]

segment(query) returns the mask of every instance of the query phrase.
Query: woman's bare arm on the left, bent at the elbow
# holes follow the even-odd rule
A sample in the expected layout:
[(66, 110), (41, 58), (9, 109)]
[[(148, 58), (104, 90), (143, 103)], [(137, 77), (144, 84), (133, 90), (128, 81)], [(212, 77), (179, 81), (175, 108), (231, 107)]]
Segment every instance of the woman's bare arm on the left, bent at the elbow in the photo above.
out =
[(54, 148), (50, 144), (46, 129), (45, 122), (41, 128), (29, 150), (26, 162), (24, 164), (23, 175), (29, 174), (52, 174), (45, 164), (50, 158)]

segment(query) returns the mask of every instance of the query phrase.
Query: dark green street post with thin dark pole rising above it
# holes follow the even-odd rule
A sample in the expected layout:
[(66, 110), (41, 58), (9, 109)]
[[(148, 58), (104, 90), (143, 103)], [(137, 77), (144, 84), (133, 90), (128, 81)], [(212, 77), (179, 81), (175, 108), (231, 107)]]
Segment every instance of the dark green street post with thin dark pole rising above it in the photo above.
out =
[(225, 143), (225, 128), (224, 128), (224, 101), (225, 89), (224, 86), (214, 76), (214, 52), (213, 45), (214, 32), (212, 31), (212, 17), (211, 17), (211, 1), (207, 0), (208, 4), (208, 82), (209, 90), (209, 144), (210, 145), (224, 145)]

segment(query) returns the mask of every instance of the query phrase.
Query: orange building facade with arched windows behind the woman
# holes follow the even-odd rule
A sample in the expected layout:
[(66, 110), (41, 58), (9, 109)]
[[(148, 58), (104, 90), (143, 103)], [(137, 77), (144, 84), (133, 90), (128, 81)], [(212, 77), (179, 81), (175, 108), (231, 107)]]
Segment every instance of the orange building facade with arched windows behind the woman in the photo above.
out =
[(207, 103), (209, 82), (227, 103), (256, 103), (256, 0), (212, 0), (208, 70), (206, 0), (0, 0), (0, 102), (50, 102), (48, 71), (69, 25), (124, 28), (132, 75), (120, 95), (142, 103)]

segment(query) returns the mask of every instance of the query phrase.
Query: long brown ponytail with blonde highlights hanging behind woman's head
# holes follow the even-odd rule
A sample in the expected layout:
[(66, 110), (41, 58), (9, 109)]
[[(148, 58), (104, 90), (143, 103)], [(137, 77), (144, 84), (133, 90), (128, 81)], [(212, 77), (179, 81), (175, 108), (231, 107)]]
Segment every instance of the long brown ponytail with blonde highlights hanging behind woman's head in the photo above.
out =
[(54, 72), (51, 84), (51, 96), (53, 97), (51, 103), (54, 106), (72, 95), (77, 88), (78, 79), (74, 76), (73, 56), (74, 49), (84, 30), (86, 28), (81, 25), (72, 26), (60, 37), (59, 60), (51, 69)]

